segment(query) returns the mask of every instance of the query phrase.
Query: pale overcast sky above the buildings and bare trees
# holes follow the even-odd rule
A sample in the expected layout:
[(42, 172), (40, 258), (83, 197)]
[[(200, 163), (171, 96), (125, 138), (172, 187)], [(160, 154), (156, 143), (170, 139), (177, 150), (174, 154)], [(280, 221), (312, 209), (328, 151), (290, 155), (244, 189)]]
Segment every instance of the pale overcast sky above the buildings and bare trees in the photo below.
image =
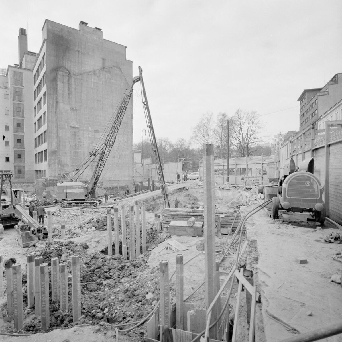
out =
[[(299, 130), (298, 97), (342, 72), (341, 0), (89, 1), (1, 3), (0, 67), (18, 63), (18, 31), (38, 52), (45, 18), (85, 21), (127, 46), (143, 77), (157, 137), (187, 141), (202, 114), (256, 110), (262, 132)], [(134, 91), (134, 142), (146, 128)]]

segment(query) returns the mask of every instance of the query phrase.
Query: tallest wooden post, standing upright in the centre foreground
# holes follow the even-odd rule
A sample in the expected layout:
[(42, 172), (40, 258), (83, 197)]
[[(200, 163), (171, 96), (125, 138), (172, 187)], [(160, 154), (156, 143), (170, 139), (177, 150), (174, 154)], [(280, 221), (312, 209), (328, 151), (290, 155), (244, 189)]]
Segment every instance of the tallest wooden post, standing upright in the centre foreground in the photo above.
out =
[[(204, 156), (204, 250), (205, 250), (205, 301), (208, 310), (214, 300), (216, 286), (215, 260), (215, 183), (214, 183), (214, 145), (205, 145)], [(216, 319), (216, 306), (211, 314), (211, 323)], [(216, 326), (209, 331), (210, 337), (215, 338)]]

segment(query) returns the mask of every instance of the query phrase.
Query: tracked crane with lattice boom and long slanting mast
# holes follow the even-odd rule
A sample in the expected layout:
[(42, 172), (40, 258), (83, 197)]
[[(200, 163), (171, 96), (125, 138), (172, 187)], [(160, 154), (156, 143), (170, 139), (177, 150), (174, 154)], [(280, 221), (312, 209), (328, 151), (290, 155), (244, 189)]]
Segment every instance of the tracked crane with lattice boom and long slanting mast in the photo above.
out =
[[(136, 82), (141, 82), (143, 93), (143, 108), (145, 113), (145, 119), (149, 132), (150, 141), (152, 144), (152, 150), (156, 160), (157, 175), (160, 184), (160, 190), (162, 194), (163, 208), (169, 208), (170, 203), (168, 200), (168, 189), (165, 183), (164, 174), (162, 170), (161, 159), (158, 152), (156, 136), (152, 124), (152, 118), (147, 102), (146, 91), (142, 76), (142, 68), (139, 67), (139, 76), (133, 78), (130, 88), (128, 88), (122, 97), (121, 103), (114, 116), (114, 121), (110, 130), (104, 140), (104, 142), (89, 153), (89, 157), (74, 170), (73, 175), (70, 173), (64, 173), (60, 179), (60, 183), (57, 183), (57, 201), (61, 202), (62, 208), (72, 207), (90, 207), (96, 208), (101, 205), (102, 200), (96, 196), (96, 187), (100, 180), (102, 171), (105, 167), (111, 148), (113, 147), (116, 136), (118, 134), (122, 119), (126, 113), (129, 101), (133, 93), (133, 86)], [(94, 172), (89, 182), (78, 181), (81, 174), (91, 165), (93, 160), (97, 157)]]

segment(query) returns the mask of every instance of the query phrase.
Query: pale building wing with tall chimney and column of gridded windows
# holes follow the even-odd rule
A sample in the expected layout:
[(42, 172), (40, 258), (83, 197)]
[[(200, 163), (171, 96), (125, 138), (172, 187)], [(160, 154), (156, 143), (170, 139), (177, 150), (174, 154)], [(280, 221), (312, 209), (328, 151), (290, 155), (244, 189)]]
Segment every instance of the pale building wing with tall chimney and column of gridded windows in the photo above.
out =
[(3, 131), (0, 170), (13, 172), (17, 182), (34, 181), (32, 139), (32, 66), (37, 54), (27, 50), (25, 29), (19, 30), (19, 64), (2, 69), (0, 127)]

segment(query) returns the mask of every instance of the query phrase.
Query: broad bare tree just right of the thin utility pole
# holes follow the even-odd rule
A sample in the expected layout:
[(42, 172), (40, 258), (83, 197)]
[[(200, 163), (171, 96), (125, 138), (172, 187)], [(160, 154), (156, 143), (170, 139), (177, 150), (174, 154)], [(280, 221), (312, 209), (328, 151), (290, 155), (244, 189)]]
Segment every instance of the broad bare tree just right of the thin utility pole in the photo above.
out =
[(241, 157), (249, 156), (254, 152), (255, 147), (262, 143), (262, 139), (258, 135), (262, 128), (262, 122), (256, 111), (242, 113), (241, 109), (237, 109), (229, 126), (232, 126), (230, 143), (237, 149)]

